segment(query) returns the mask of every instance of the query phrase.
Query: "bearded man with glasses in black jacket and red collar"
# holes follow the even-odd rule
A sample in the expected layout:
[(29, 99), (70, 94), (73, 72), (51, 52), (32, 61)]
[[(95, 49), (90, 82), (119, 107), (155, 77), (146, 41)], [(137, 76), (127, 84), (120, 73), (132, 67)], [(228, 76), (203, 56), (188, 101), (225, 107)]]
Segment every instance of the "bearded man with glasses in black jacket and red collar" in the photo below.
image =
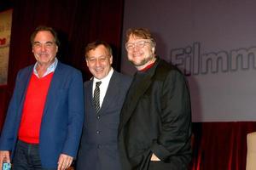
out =
[(120, 116), (122, 169), (186, 169), (191, 156), (191, 118), (185, 78), (155, 56), (154, 37), (147, 29), (129, 29), (125, 48), (137, 73)]

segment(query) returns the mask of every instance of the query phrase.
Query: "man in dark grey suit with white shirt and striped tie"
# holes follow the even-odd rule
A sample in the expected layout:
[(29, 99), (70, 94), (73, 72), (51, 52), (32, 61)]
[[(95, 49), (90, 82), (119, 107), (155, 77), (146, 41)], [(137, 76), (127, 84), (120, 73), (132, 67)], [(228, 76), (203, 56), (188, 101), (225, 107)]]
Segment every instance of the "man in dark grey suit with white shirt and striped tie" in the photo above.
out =
[(89, 43), (85, 59), (93, 78), (84, 82), (84, 128), (76, 169), (120, 170), (119, 113), (131, 78), (113, 70), (112, 49), (107, 42)]

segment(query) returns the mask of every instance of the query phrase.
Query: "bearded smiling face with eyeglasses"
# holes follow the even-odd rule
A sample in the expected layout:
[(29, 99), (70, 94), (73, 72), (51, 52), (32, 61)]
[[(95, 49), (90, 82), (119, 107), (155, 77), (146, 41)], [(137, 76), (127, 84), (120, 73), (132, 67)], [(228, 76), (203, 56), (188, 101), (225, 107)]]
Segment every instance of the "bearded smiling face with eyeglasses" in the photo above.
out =
[(151, 40), (130, 35), (125, 44), (128, 60), (137, 70), (145, 68), (154, 61), (154, 45)]

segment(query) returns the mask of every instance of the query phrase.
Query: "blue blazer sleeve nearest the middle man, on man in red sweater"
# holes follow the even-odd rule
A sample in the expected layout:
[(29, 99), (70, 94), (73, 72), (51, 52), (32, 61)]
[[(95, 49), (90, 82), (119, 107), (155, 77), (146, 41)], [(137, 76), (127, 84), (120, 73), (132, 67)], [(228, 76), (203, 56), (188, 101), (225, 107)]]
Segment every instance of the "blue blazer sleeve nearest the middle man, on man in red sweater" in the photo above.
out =
[(81, 72), (74, 74), (68, 90), (67, 138), (62, 153), (75, 157), (84, 122), (84, 90)]

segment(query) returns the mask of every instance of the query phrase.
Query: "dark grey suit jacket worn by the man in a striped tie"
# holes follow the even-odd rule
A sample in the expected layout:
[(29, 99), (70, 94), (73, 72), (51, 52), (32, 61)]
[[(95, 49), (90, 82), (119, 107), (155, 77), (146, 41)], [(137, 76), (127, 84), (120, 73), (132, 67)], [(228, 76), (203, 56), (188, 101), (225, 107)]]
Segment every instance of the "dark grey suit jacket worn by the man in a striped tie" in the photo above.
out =
[(84, 82), (84, 128), (76, 169), (120, 170), (117, 150), (119, 113), (131, 77), (113, 71), (101, 110), (97, 114), (92, 100), (92, 83), (93, 80)]

